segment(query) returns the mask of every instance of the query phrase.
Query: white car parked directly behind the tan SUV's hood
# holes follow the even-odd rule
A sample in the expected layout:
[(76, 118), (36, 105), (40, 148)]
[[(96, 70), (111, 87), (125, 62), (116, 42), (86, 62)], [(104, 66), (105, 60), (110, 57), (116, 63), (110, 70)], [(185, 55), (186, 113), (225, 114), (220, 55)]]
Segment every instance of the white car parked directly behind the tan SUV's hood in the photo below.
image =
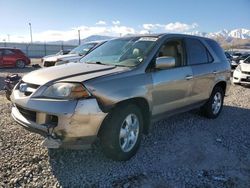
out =
[(74, 48), (66, 55), (56, 54), (54, 56), (44, 57), (42, 58), (43, 67), (51, 67), (54, 65), (61, 65), (69, 62), (77, 62), (91, 50), (95, 49), (103, 43), (104, 41), (88, 42)]

